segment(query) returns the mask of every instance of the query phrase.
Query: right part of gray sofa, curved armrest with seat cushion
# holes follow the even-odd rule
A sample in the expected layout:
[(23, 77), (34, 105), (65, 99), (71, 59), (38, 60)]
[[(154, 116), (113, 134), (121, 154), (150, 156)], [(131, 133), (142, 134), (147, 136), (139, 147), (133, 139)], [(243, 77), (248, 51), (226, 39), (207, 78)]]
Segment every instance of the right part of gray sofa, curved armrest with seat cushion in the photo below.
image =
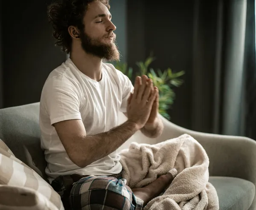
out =
[[(137, 132), (121, 149), (131, 142), (155, 144), (184, 133), (193, 136), (209, 156), (209, 182), (218, 193), (220, 210), (256, 209), (256, 142), (239, 136), (224, 136), (190, 131), (169, 122), (163, 116), (164, 131), (157, 139)], [(126, 117), (119, 115), (120, 123)]]

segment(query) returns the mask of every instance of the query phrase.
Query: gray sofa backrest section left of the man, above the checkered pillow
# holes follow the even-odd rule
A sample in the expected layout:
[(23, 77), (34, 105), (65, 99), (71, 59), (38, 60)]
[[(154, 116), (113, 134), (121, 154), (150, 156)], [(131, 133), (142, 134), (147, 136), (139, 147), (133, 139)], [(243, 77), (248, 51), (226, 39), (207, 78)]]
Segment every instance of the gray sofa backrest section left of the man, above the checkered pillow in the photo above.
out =
[(39, 102), (0, 109), (0, 139), (17, 159), (47, 180), (46, 161), (40, 145)]

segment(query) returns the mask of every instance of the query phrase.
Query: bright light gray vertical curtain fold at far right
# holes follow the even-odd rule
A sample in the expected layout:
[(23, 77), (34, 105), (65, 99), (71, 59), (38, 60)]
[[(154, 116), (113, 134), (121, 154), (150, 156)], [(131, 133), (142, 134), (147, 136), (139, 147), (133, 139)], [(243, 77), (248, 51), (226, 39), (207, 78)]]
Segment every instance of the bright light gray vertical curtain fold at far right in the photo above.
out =
[(224, 44), (223, 128), (226, 135), (243, 135), (243, 77), (247, 0), (230, 1), (227, 5)]

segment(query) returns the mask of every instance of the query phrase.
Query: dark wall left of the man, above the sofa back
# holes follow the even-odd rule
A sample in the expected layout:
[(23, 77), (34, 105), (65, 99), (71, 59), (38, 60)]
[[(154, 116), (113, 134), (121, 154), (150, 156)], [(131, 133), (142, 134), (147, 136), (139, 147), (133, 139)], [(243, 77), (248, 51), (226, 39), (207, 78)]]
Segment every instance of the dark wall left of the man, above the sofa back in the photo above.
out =
[(38, 102), (49, 74), (66, 59), (55, 47), (45, 1), (4, 1), (3, 106)]

